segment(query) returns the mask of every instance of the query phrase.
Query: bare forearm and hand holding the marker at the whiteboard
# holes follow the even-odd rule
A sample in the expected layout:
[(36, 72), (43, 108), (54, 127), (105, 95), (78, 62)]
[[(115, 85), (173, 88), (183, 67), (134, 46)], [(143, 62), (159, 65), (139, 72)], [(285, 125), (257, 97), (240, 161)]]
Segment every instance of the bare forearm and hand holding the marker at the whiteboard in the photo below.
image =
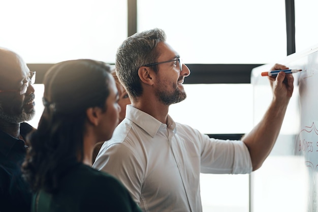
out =
[[(275, 64), (271, 70), (289, 69)], [(279, 72), (277, 77), (268, 77), (273, 92), (273, 99), (260, 123), (242, 138), (252, 161), (253, 171), (260, 168), (270, 154), (278, 137), (288, 103), (294, 90), (292, 74)]]

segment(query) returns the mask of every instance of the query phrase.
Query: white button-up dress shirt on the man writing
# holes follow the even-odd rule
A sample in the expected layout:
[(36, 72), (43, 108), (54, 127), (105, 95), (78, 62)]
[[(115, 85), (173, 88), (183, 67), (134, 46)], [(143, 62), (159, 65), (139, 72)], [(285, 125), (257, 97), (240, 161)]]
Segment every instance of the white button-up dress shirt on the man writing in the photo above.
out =
[(169, 115), (167, 123), (128, 105), (93, 164), (117, 177), (143, 211), (200, 212), (200, 172), (252, 171), (242, 141), (209, 138)]

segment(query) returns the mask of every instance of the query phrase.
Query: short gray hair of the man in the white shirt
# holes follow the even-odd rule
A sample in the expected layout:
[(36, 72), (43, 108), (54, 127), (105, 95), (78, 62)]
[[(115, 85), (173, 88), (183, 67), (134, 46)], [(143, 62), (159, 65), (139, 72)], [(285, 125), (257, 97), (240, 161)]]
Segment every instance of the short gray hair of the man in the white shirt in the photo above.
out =
[[(166, 41), (162, 29), (154, 28), (127, 38), (116, 53), (116, 73), (130, 97), (136, 99), (142, 95), (142, 86), (138, 69), (147, 64), (156, 63), (159, 52), (156, 46)], [(154, 67), (156, 71), (156, 67)]]

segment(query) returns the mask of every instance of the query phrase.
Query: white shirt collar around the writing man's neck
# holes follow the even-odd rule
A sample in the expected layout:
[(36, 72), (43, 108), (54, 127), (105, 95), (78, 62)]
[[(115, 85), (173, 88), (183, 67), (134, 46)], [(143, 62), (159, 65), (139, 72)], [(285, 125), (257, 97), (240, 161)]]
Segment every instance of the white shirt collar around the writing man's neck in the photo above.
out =
[(169, 129), (172, 129), (175, 133), (176, 124), (174, 120), (170, 117), (170, 115), (167, 116), (168, 125), (166, 125), (161, 123), (148, 113), (145, 113), (133, 107), (132, 105), (127, 105), (126, 118), (130, 119), (133, 123), (135, 123), (137, 126), (146, 131), (151, 137), (155, 136), (155, 134), (158, 132), (162, 125), (167, 126), (167, 128)]

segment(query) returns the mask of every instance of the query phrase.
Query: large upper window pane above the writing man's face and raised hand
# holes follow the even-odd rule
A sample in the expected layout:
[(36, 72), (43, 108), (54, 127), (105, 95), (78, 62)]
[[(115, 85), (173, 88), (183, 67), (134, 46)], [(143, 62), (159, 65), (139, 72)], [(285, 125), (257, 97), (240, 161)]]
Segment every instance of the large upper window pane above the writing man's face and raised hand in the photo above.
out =
[(138, 32), (162, 28), (185, 64), (276, 63), (286, 52), (284, 1), (138, 0)]

